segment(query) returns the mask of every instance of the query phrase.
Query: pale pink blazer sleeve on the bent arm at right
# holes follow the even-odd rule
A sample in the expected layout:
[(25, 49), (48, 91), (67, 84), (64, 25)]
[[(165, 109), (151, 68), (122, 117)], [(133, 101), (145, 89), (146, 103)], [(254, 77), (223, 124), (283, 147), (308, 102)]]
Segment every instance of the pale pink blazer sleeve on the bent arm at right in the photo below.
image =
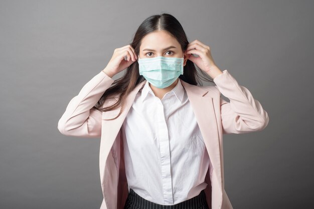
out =
[(269, 117), (262, 105), (253, 98), (246, 87), (239, 85), (227, 70), (216, 76), (213, 81), (220, 93), (230, 100), (227, 102), (220, 97), (223, 133), (261, 131), (268, 125)]

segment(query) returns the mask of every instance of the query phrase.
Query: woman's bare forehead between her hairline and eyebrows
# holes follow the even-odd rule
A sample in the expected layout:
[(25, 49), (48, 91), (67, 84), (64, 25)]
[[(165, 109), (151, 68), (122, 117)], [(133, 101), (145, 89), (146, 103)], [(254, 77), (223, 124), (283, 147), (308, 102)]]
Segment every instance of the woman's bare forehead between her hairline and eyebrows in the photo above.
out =
[(147, 34), (143, 37), (140, 45), (140, 50), (144, 48), (149, 49), (164, 49), (169, 46), (180, 47), (179, 42), (173, 36), (171, 36), (168, 32), (165, 31), (157, 31)]

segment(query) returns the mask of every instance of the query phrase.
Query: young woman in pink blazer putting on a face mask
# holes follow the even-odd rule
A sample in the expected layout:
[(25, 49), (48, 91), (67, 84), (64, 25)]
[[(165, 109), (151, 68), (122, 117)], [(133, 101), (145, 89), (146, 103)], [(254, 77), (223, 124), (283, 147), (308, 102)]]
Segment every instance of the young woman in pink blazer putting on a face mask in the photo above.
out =
[(268, 121), (250, 91), (217, 67), (210, 47), (189, 43), (178, 20), (162, 14), (114, 50), (69, 102), (58, 129), (101, 137), (100, 208), (230, 209), (222, 135), (260, 131)]

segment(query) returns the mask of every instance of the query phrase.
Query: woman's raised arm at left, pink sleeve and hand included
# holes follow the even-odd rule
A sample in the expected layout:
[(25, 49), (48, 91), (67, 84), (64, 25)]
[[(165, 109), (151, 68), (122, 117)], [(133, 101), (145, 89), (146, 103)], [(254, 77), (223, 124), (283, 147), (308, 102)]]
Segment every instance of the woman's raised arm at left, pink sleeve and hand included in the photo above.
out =
[(105, 69), (86, 83), (79, 94), (71, 99), (58, 122), (59, 131), (68, 136), (100, 137), (102, 112), (94, 106), (114, 82), (112, 77), (136, 60), (137, 56), (131, 45), (115, 49)]

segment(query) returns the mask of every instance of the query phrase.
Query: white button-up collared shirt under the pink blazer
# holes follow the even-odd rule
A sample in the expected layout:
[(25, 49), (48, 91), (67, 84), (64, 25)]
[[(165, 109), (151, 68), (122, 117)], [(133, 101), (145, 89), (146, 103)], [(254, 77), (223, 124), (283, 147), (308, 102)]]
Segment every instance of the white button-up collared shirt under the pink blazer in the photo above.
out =
[(209, 156), (179, 79), (160, 99), (146, 81), (122, 125), (128, 190), (158, 204), (177, 204), (206, 188)]

